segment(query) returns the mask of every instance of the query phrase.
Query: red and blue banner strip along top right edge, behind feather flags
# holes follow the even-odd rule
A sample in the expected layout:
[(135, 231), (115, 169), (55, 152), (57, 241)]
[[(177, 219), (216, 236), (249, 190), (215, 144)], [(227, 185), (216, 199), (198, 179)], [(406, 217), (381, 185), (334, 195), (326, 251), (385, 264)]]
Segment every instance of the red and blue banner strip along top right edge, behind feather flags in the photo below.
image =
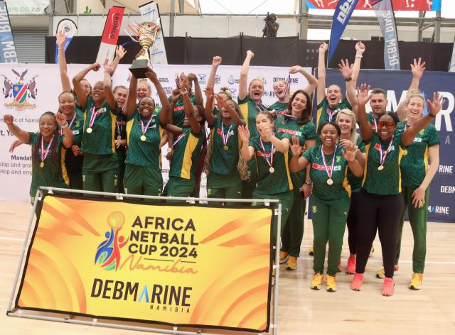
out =
[[(309, 9), (336, 9), (338, 0), (306, 0)], [(355, 9), (373, 10), (375, 0), (359, 0)], [(395, 11), (441, 11), (441, 0), (392, 0)]]

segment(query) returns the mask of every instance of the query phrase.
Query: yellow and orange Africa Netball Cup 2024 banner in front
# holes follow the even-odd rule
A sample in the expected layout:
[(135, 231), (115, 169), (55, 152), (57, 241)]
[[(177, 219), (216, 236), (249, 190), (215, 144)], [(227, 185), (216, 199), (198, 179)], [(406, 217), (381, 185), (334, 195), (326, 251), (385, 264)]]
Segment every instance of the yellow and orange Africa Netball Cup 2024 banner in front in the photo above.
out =
[(272, 210), (46, 196), (16, 307), (268, 331)]

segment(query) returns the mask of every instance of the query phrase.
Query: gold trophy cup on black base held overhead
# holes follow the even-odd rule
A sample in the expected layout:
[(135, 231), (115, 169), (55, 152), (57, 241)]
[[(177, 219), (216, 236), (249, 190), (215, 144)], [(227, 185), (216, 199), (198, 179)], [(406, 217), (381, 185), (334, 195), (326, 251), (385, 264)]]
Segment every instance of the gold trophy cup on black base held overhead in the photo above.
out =
[(132, 72), (134, 77), (145, 78), (145, 72), (151, 70), (149, 48), (154, 45), (156, 35), (159, 34), (161, 28), (158, 24), (153, 22), (134, 23), (128, 25), (128, 27), (134, 33), (134, 37), (130, 35), (132, 39), (139, 42), (141, 47), (145, 50), (143, 55), (140, 55), (133, 61), (129, 71)]

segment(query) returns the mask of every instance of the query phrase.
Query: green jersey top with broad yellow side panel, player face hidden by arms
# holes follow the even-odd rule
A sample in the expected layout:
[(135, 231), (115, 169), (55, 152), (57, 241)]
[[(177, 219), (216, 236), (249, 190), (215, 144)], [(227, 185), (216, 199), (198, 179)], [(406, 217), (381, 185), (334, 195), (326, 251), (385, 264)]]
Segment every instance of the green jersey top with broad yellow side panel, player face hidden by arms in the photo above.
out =
[(198, 167), (200, 152), (205, 141), (205, 129), (193, 133), (191, 128), (183, 128), (183, 132), (173, 141), (173, 155), (169, 177), (194, 179)]

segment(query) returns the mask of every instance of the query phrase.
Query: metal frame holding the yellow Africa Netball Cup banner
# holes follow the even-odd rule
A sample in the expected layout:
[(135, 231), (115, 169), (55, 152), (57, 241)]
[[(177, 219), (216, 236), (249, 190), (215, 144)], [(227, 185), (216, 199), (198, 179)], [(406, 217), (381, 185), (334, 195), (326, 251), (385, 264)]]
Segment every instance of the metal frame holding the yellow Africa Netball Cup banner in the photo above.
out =
[[(202, 329), (210, 329), (210, 328), (215, 328), (215, 329), (227, 329), (230, 331), (250, 331), (254, 332), (257, 334), (262, 334), (261, 331), (256, 330), (256, 329), (236, 329), (235, 327), (232, 326), (210, 326), (210, 325), (205, 325), (205, 324), (172, 324), (169, 322), (148, 322), (146, 319), (131, 319), (131, 318), (116, 318), (116, 317), (105, 317), (105, 316), (100, 316), (97, 317), (96, 315), (91, 315), (91, 314), (79, 314), (75, 312), (64, 312), (64, 311), (53, 311), (53, 310), (45, 310), (45, 309), (40, 309), (40, 308), (26, 308), (26, 307), (18, 307), (17, 301), (19, 294), (21, 292), (21, 287), (18, 287), (18, 282), (19, 282), (19, 276), (22, 274), (22, 277), (25, 277), (26, 273), (26, 265), (28, 262), (29, 254), (31, 251), (31, 248), (33, 246), (33, 239), (35, 238), (36, 231), (38, 229), (38, 224), (39, 224), (39, 219), (41, 216), (41, 212), (38, 212), (38, 218), (36, 219), (36, 224), (33, 225), (33, 219), (34, 219), (34, 214), (36, 212), (36, 209), (38, 206), (42, 206), (42, 203), (44, 202), (44, 198), (46, 196), (53, 196), (53, 195), (60, 195), (60, 197), (52, 197), (51, 199), (71, 199), (72, 201), (77, 201), (77, 200), (82, 200), (82, 201), (87, 201), (87, 202), (92, 202), (95, 200), (97, 202), (96, 198), (92, 198), (90, 196), (95, 196), (95, 197), (100, 197), (102, 196), (102, 199), (104, 199), (105, 202), (121, 202), (122, 204), (130, 204), (130, 205), (137, 205), (137, 202), (134, 202), (134, 200), (143, 200), (143, 199), (154, 199), (154, 200), (173, 200), (173, 201), (181, 201), (181, 202), (186, 202), (189, 203), (189, 205), (192, 204), (197, 204), (197, 202), (207, 202), (210, 204), (210, 202), (232, 202), (232, 203), (250, 203), (252, 204), (253, 202), (259, 203), (259, 204), (264, 204), (264, 206), (271, 207), (271, 205), (276, 205), (274, 206), (275, 208), (272, 209), (272, 222), (270, 224), (270, 234), (272, 233), (272, 224), (273, 224), (273, 216), (277, 215), (277, 241), (276, 245), (279, 246), (281, 242), (281, 237), (279, 234), (280, 227), (281, 227), (281, 212), (282, 212), (282, 204), (279, 202), (278, 199), (213, 199), (213, 198), (198, 198), (198, 197), (154, 197), (154, 196), (142, 196), (142, 195), (137, 195), (137, 194), (119, 194), (119, 193), (105, 193), (105, 192), (90, 192), (90, 191), (83, 191), (83, 190), (68, 190), (68, 189), (60, 189), (60, 188), (55, 188), (55, 187), (40, 187), (36, 193), (35, 197), (35, 202), (33, 203), (33, 210), (31, 212), (30, 219), (28, 221), (28, 226), (26, 229), (26, 236), (24, 238), (23, 242), (23, 248), (21, 250), (21, 256), (20, 256), (20, 261), (18, 263), (18, 268), (16, 270), (16, 276), (14, 279), (14, 285), (13, 285), (13, 290), (11, 292), (11, 298), (9, 300), (9, 306), (8, 306), (8, 311), (7, 315), (10, 317), (25, 317), (28, 319), (42, 319), (42, 320), (47, 320), (47, 321), (54, 321), (54, 322), (65, 322), (65, 323), (73, 323), (73, 324), (85, 324), (85, 325), (92, 325), (92, 326), (103, 326), (103, 327), (111, 327), (111, 328), (116, 328), (116, 329), (129, 329), (129, 330), (139, 330), (139, 331), (156, 331), (156, 332), (161, 332), (165, 334), (210, 334), (208, 332), (203, 331)], [(66, 195), (63, 195), (66, 194)], [(84, 194), (87, 197), (85, 198), (75, 198), (75, 194)], [(129, 200), (129, 201), (127, 201)], [(148, 204), (146, 204), (148, 205)], [(154, 205), (151, 203), (150, 205)], [(156, 205), (156, 203), (155, 203)], [(144, 204), (139, 204), (137, 205), (139, 207), (143, 207)], [(166, 204), (166, 206), (169, 206)], [(178, 206), (178, 204), (176, 204)], [(186, 205), (185, 205), (186, 206)], [(185, 207), (184, 206), (184, 207)], [(206, 207), (204, 205), (201, 205), (200, 207)], [(210, 208), (210, 207), (208, 207)], [(212, 207), (213, 208), (213, 207)], [(227, 207), (228, 209), (229, 207)], [(247, 207), (246, 207), (247, 208)], [(260, 208), (260, 207), (259, 207)], [(220, 207), (220, 209), (223, 209), (223, 207)], [(33, 237), (31, 238), (31, 231), (33, 228)], [(31, 240), (29, 239), (31, 238)], [(272, 241), (272, 239), (270, 239)], [(272, 249), (273, 250), (273, 249)], [(28, 252), (27, 252), (28, 251)], [(26, 256), (27, 253), (27, 256)], [(279, 257), (279, 248), (274, 248), (274, 253), (275, 253), (275, 259), (278, 259)], [(272, 256), (272, 253), (269, 253), (269, 257)], [(26, 258), (24, 258), (26, 256)], [(271, 262), (271, 260), (270, 260)], [(272, 334), (277, 334), (277, 315), (278, 315), (278, 294), (279, 294), (279, 264), (271, 264), (271, 269), (270, 271), (272, 272), (272, 269), (274, 272), (276, 272), (276, 275), (274, 277), (274, 286), (272, 284), (272, 287), (269, 286), (269, 297), (267, 298), (267, 324), (269, 325), (268, 331), (270, 331), (270, 328), (272, 329)], [(271, 274), (270, 274), (271, 275)], [(269, 281), (269, 285), (272, 283), (272, 281)], [(21, 285), (23, 284), (23, 280), (21, 281)], [(273, 298), (272, 298), (273, 295)], [(13, 307), (14, 303), (14, 298), (16, 297), (16, 305)], [(272, 302), (273, 299), (273, 302)], [(272, 308), (270, 308), (272, 307)], [(55, 316), (48, 316), (48, 315), (41, 315), (41, 314), (34, 314), (29, 313), (28, 310), (31, 310), (33, 312), (53, 312), (53, 313), (58, 313), (58, 314), (65, 314), (69, 315), (69, 317), (55, 317)], [(271, 312), (271, 313), (270, 313)], [(272, 314), (272, 319), (270, 319)], [(87, 317), (89, 318), (88, 320), (84, 319), (74, 319), (74, 316), (81, 316), (81, 317)], [(98, 322), (98, 319), (108, 319), (108, 320), (114, 320), (115, 323), (109, 323), (109, 322)], [(120, 321), (127, 321), (127, 322), (139, 322), (139, 323), (146, 323), (146, 324), (163, 324), (163, 325), (168, 325), (172, 326), (172, 329), (160, 329), (160, 328), (151, 328), (148, 326), (133, 326), (130, 324), (120, 324), (117, 322), (117, 320)], [(194, 331), (183, 331), (180, 328), (191, 328), (195, 329)], [(200, 330), (198, 330), (200, 329)]]

